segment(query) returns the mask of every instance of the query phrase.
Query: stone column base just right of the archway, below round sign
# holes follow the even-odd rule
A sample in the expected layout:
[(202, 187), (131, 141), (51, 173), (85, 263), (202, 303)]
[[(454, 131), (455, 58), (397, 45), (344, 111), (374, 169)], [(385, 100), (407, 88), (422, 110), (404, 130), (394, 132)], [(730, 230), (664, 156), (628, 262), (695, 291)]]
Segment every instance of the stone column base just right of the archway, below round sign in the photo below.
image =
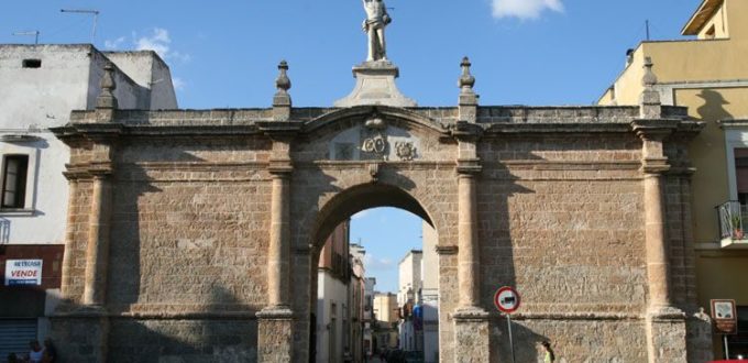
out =
[(454, 320), (454, 362), (488, 362), (491, 336), (488, 312), (483, 309), (458, 309)]

